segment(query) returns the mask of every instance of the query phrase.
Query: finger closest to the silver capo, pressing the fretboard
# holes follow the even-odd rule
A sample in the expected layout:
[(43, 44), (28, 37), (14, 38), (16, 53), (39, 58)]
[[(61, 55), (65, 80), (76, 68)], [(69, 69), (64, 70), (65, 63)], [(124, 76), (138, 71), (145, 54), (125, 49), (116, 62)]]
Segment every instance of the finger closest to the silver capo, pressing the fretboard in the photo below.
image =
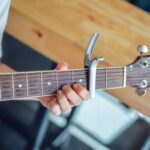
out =
[(87, 89), (81, 86), (79, 83), (75, 83), (73, 85), (73, 89), (83, 100), (87, 100), (90, 98), (90, 94)]

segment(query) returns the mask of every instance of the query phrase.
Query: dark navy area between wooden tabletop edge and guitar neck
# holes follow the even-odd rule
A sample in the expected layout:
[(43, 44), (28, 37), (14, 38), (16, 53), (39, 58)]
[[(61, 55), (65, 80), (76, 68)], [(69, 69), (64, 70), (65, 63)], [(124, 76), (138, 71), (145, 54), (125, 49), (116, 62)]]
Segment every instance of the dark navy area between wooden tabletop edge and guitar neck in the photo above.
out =
[(7, 34), (3, 40), (2, 61), (17, 71), (48, 70), (56, 64)]

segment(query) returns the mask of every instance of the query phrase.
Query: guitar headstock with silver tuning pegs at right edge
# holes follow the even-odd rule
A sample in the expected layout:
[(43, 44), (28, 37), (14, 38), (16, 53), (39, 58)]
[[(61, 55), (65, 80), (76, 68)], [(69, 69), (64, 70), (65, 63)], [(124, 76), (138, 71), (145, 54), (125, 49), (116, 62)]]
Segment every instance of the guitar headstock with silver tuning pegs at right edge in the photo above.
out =
[(148, 52), (145, 45), (138, 46), (137, 51), (140, 56), (132, 64), (127, 65), (126, 81), (127, 86), (136, 88), (136, 93), (144, 96), (150, 87), (150, 56), (144, 55)]

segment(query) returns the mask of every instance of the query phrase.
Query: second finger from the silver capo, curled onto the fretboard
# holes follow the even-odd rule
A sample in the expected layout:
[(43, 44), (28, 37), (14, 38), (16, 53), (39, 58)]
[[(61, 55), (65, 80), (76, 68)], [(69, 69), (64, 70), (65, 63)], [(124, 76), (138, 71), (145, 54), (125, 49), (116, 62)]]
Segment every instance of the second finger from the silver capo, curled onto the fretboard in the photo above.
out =
[(81, 97), (70, 86), (63, 86), (62, 92), (67, 97), (67, 99), (69, 99), (71, 104), (73, 104), (74, 106), (78, 106), (80, 104)]

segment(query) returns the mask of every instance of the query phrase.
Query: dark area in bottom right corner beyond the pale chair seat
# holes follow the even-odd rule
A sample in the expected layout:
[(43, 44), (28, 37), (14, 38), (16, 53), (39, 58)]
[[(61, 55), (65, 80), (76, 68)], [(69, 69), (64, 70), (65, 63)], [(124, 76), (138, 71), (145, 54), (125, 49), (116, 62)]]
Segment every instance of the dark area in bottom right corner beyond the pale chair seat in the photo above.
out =
[(140, 150), (150, 136), (150, 124), (138, 119), (110, 145), (112, 150)]

